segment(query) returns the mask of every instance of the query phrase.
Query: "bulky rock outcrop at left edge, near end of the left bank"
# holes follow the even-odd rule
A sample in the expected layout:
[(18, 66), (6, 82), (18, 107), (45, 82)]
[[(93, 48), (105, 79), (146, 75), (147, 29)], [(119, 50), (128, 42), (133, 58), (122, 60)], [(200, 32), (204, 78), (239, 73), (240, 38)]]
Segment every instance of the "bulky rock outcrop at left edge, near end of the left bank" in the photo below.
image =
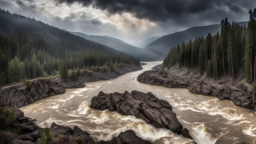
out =
[(0, 89), (1, 105), (22, 107), (52, 95), (64, 94), (66, 89), (55, 79), (34, 79), (29, 83), (17, 83)]

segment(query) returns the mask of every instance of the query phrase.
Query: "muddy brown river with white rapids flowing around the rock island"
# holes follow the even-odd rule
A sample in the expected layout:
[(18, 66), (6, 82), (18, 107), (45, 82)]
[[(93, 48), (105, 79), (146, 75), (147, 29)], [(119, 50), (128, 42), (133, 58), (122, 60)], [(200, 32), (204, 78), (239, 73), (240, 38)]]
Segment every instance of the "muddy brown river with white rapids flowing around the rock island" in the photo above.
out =
[(134, 116), (90, 107), (91, 98), (100, 91), (152, 92), (172, 105), (178, 120), (197, 143), (256, 143), (256, 115), (251, 110), (235, 106), (231, 101), (192, 94), (187, 89), (146, 85), (136, 80), (139, 74), (157, 64), (160, 62), (148, 62), (141, 71), (127, 73), (117, 79), (85, 83), (85, 88), (67, 89), (66, 94), (45, 98), (20, 109), (25, 116), (37, 119), (38, 125), (44, 122), (72, 128), (78, 125), (95, 140), (110, 140), (121, 131), (133, 130), (142, 139), (156, 143), (191, 143), (181, 135), (155, 128)]

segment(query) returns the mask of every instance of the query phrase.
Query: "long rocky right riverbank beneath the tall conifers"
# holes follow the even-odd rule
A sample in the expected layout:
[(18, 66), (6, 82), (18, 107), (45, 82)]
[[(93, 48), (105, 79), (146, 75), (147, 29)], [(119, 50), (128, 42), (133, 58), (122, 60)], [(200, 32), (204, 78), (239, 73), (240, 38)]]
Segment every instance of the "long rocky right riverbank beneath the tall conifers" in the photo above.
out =
[(137, 80), (150, 85), (167, 88), (187, 88), (194, 94), (212, 95), (219, 100), (231, 100), (234, 104), (248, 109), (254, 109), (252, 92), (248, 83), (242, 81), (232, 86), (227, 82), (216, 82), (206, 79), (200, 74), (188, 73), (184, 70), (150, 70), (139, 74)]

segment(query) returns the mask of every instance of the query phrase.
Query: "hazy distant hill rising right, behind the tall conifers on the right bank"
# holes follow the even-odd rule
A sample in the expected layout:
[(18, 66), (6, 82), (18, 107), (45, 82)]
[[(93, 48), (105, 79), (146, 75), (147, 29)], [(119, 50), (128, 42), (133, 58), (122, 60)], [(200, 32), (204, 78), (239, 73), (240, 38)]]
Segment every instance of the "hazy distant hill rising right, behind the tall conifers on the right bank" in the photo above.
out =
[[(239, 25), (248, 25), (248, 22), (238, 22)], [(218, 31), (221, 31), (220, 25), (208, 25), (208, 26), (195, 26), (185, 31), (175, 32), (174, 34), (164, 35), (158, 38), (152, 43), (148, 44), (145, 49), (151, 52), (157, 53), (159, 58), (163, 59), (169, 49), (180, 44), (182, 42), (187, 43), (189, 40), (195, 40), (197, 37), (206, 37), (207, 34), (215, 35)]]

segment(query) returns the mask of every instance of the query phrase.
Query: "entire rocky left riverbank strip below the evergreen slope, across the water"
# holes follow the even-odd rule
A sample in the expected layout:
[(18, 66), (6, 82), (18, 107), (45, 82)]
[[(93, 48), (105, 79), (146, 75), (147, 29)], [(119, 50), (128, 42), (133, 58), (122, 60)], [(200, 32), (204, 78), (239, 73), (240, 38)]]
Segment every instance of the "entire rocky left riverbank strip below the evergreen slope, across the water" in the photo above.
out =
[(61, 80), (59, 76), (55, 76), (4, 86), (0, 88), (0, 106), (26, 106), (52, 95), (64, 94), (67, 88), (82, 88), (85, 86), (85, 82), (114, 79), (137, 70), (141, 70), (141, 67), (124, 65), (121, 68), (116, 67), (114, 71), (86, 71), (85, 74), (76, 77), (75, 80), (71, 76), (67, 80)]

